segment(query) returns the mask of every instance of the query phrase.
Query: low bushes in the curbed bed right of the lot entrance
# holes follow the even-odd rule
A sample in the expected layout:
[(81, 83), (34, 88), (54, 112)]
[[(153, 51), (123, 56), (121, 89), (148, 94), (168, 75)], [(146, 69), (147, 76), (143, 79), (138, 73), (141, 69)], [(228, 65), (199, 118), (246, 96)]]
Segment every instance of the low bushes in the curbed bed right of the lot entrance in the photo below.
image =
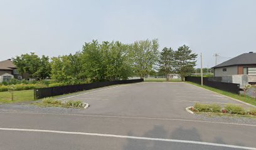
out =
[(227, 104), (224, 108), (221, 108), (219, 104), (196, 103), (191, 110), (206, 113), (250, 114), (256, 116), (256, 108), (245, 110), (236, 104)]

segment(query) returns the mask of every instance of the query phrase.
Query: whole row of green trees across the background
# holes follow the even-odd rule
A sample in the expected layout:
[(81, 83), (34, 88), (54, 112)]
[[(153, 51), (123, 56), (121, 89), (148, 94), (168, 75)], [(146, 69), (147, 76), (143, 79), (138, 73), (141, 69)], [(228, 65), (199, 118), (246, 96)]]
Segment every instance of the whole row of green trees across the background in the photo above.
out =
[(97, 40), (85, 42), (82, 51), (75, 54), (41, 58), (35, 53), (13, 58), (21, 75), (46, 79), (56, 83), (80, 84), (96, 81), (114, 81), (137, 76), (144, 78), (152, 71), (179, 74), (183, 79), (193, 71), (196, 54), (184, 45), (173, 51), (159, 52), (157, 39), (124, 44), (119, 41)]

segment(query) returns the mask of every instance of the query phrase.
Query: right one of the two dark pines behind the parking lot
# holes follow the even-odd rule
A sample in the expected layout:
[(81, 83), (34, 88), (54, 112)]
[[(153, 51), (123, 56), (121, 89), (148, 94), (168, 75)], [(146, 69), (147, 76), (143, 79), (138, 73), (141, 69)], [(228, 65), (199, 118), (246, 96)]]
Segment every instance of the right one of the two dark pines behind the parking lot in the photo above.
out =
[(184, 77), (193, 72), (193, 68), (196, 66), (197, 56), (186, 45), (178, 47), (178, 51), (175, 51), (175, 66), (177, 73), (181, 76), (181, 81), (184, 81)]

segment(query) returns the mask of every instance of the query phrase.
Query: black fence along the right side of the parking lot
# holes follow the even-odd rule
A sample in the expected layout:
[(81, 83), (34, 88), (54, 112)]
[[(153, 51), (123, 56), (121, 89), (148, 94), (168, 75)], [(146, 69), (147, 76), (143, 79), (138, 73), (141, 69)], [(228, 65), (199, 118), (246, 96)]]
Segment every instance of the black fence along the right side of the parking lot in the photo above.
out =
[[(185, 78), (185, 81), (190, 81), (192, 83), (201, 84), (201, 77), (191, 77)], [(239, 94), (240, 84), (235, 83), (223, 83), (218, 81), (210, 81), (208, 78), (203, 78), (203, 84), (205, 86), (210, 86), (211, 88), (221, 89), (230, 93)]]

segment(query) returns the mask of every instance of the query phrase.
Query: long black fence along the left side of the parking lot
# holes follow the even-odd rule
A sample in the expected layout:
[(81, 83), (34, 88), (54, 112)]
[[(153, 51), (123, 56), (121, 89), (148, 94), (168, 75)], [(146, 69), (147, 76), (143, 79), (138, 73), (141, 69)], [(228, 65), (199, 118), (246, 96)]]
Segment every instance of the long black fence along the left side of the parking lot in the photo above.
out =
[(34, 89), (34, 99), (47, 98), (51, 96), (59, 96), (62, 94), (75, 93), (78, 91), (102, 88), (104, 86), (112, 86), (116, 84), (139, 83), (142, 81), (144, 81), (144, 79), (105, 81), (105, 82), (78, 84), (78, 85), (70, 85), (70, 86), (57, 86), (53, 88), (40, 88), (40, 89)]

